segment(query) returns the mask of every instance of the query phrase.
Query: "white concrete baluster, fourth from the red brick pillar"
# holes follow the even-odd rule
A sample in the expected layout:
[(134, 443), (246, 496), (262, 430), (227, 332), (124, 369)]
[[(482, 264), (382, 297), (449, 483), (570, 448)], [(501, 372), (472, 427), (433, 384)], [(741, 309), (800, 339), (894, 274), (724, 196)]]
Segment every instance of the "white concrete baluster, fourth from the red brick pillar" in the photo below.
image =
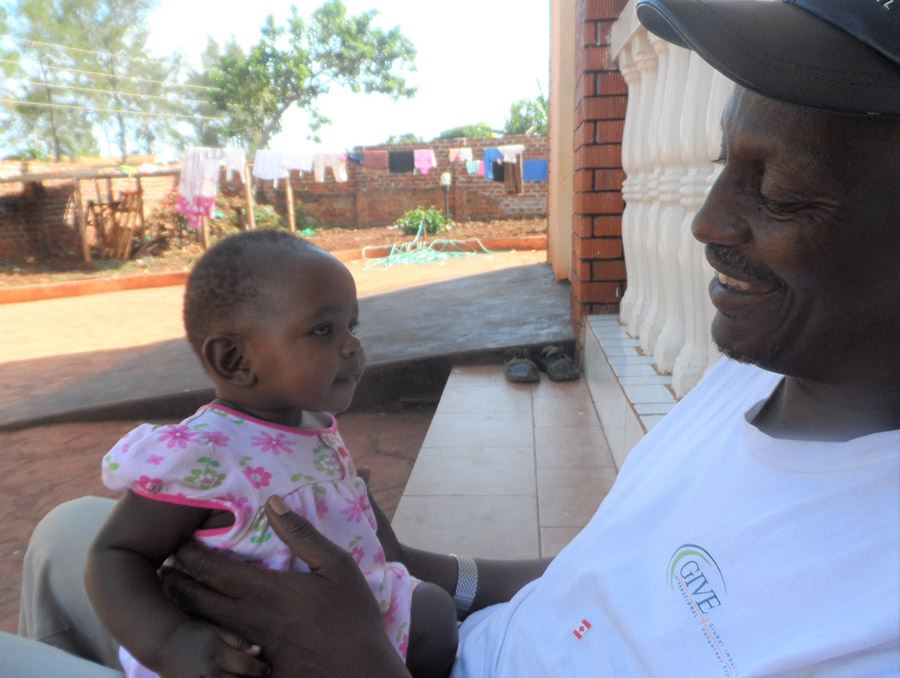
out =
[(684, 209), (678, 196), (681, 178), (687, 168), (681, 160), (681, 110), (687, 93), (687, 71), (690, 51), (669, 47), (666, 65), (666, 92), (663, 97), (659, 125), (659, 150), (662, 174), (659, 178), (659, 237), (656, 250), (662, 264), (659, 287), (659, 323), (661, 330), (653, 359), (660, 372), (669, 373), (684, 344), (684, 304), (681, 301), (681, 275), (678, 270), (678, 243)]

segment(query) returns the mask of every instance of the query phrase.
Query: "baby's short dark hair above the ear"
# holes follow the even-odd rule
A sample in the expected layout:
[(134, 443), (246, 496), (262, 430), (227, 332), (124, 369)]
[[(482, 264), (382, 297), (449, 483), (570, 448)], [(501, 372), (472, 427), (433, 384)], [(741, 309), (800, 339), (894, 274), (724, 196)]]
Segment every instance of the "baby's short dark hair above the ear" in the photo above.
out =
[(219, 241), (191, 271), (184, 290), (184, 329), (202, 358), (203, 342), (259, 299), (277, 257), (321, 251), (286, 231), (243, 231)]

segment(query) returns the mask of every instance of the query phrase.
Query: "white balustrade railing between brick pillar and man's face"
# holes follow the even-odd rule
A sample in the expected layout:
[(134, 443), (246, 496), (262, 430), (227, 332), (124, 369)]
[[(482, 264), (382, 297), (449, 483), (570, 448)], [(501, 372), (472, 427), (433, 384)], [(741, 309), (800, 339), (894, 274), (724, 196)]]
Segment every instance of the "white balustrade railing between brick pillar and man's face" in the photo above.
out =
[(712, 271), (690, 227), (717, 175), (719, 121), (734, 85), (693, 52), (649, 34), (633, 0), (613, 27), (613, 52), (628, 84), (620, 320), (657, 370), (672, 374), (680, 397), (719, 355), (709, 335)]

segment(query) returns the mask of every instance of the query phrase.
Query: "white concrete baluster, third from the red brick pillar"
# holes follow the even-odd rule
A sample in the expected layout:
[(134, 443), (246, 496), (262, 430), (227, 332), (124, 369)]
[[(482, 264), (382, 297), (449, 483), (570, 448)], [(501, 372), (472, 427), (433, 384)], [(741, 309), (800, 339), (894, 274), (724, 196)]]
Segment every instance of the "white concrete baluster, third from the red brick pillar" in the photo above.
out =
[(653, 92), (653, 110), (650, 114), (650, 123), (647, 126), (647, 134), (649, 135), (647, 148), (650, 160), (653, 163), (653, 173), (648, 181), (648, 198), (650, 200), (650, 209), (647, 210), (647, 216), (641, 225), (644, 231), (644, 242), (646, 244), (647, 256), (647, 294), (649, 295), (646, 307), (641, 309), (643, 317), (641, 318), (641, 327), (638, 331), (638, 337), (641, 340), (641, 349), (647, 355), (653, 354), (653, 348), (656, 346), (656, 340), (662, 331), (662, 262), (659, 259), (659, 249), (656, 246), (660, 234), (659, 215), (661, 205), (659, 203), (659, 180), (662, 177), (662, 144), (660, 138), (660, 129), (662, 127), (663, 101), (665, 99), (666, 88), (671, 83), (666, 81), (666, 71), (669, 65), (669, 43), (655, 35), (650, 35), (650, 44), (656, 52), (657, 68), (656, 68), (656, 89)]

